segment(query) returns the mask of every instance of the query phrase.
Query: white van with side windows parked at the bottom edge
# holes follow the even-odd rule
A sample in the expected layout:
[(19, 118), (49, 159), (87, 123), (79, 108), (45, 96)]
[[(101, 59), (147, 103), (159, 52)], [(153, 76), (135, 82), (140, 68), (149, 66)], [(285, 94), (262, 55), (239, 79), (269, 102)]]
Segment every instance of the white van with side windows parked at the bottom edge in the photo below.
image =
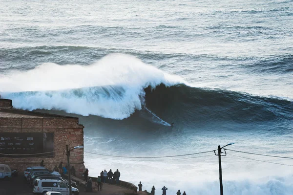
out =
[[(71, 187), (73, 195), (79, 195), (77, 188)], [(65, 181), (57, 179), (36, 179), (33, 193), (45, 195), (47, 192), (60, 192), (62, 195), (69, 195), (69, 186)]]

